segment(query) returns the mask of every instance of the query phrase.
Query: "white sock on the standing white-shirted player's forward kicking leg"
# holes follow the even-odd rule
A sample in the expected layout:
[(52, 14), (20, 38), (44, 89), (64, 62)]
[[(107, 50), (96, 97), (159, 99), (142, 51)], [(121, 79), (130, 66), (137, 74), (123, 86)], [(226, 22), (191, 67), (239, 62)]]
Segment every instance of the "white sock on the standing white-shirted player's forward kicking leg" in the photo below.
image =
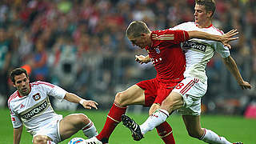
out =
[(148, 131), (153, 130), (156, 126), (159, 126), (162, 122), (165, 122), (166, 118), (168, 117), (168, 111), (163, 109), (155, 110), (154, 113), (146, 119), (146, 122), (142, 123), (140, 126), (142, 134), (146, 134)]

